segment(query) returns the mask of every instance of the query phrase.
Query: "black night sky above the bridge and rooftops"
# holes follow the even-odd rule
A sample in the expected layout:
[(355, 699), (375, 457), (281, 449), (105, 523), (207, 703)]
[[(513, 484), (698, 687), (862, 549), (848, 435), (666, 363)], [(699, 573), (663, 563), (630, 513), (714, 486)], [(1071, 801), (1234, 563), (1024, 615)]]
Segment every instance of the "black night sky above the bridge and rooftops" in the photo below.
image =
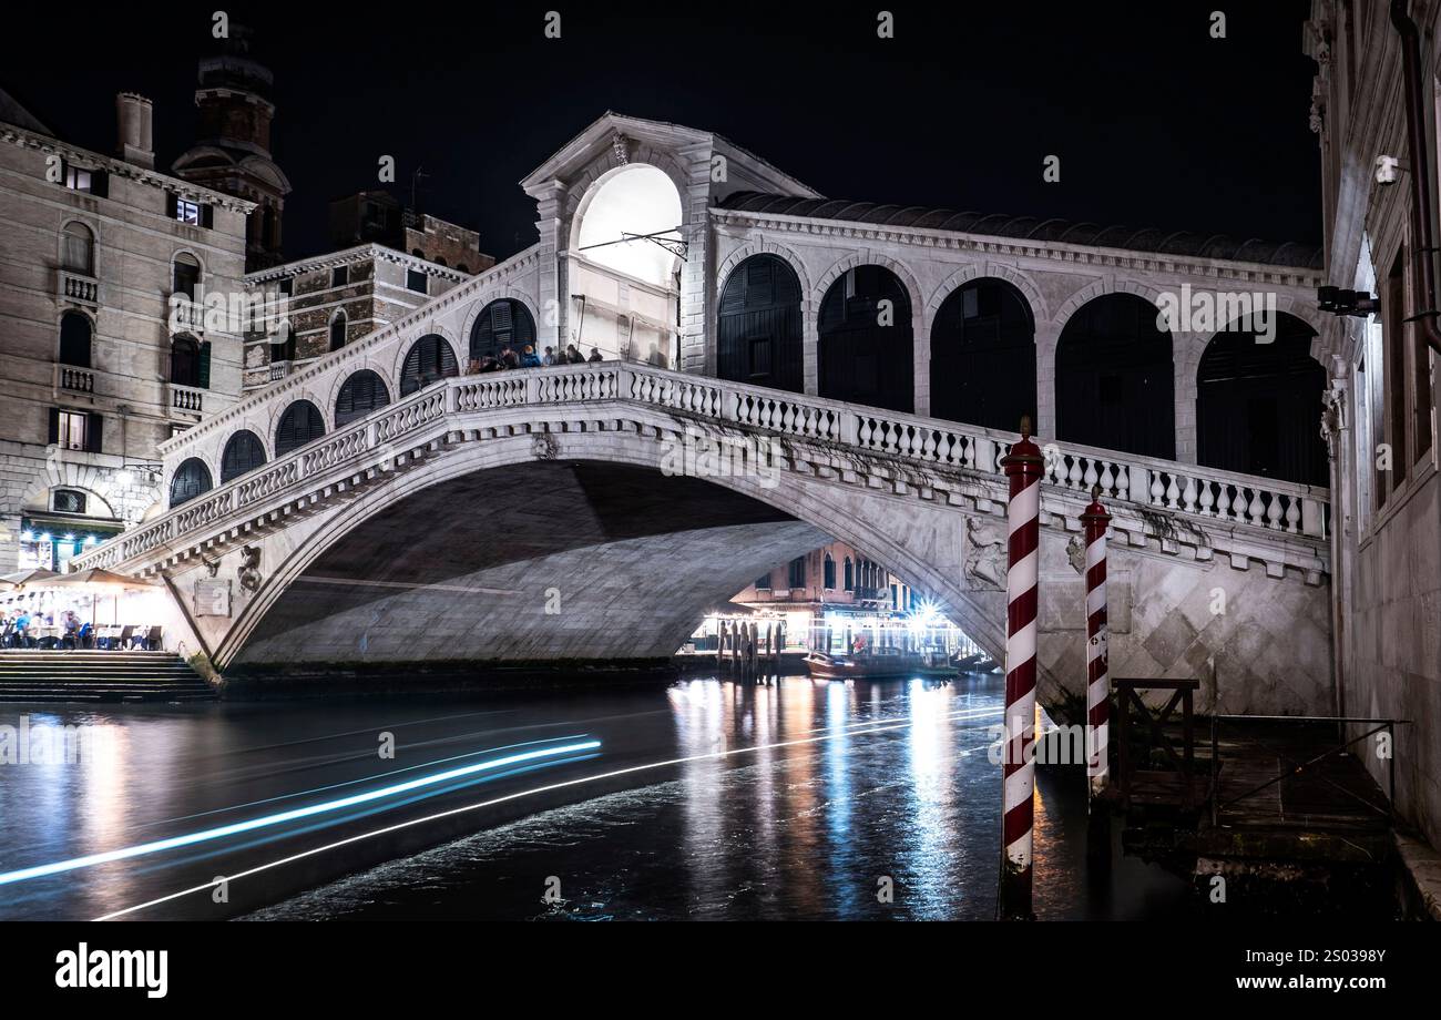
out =
[[(13, 7), (0, 85), (101, 151), (114, 92), (148, 95), (167, 167), (216, 6)], [(427, 210), (506, 256), (535, 236), (516, 182), (605, 109), (715, 130), (831, 197), (1319, 241), (1306, 0), (891, 4), (893, 40), (878, 6), (552, 0), (561, 40), (545, 6), (223, 9), (275, 73), (291, 258), (323, 249), (326, 202), (373, 187), (382, 154), (402, 197), (424, 164)]]

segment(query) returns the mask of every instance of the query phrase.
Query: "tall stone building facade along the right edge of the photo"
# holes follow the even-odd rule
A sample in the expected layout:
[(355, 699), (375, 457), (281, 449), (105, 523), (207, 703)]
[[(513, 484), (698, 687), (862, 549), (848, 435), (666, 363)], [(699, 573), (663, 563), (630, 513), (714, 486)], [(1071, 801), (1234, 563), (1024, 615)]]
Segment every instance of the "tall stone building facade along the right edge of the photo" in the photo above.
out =
[[(1409, 14), (1408, 14), (1409, 7)], [(1414, 20), (1412, 20), (1414, 19)], [(1314, 0), (1336, 709), (1406, 719), (1396, 804), (1441, 846), (1435, 362), (1441, 4)], [(1359, 732), (1365, 732), (1363, 729)], [(1359, 755), (1385, 787), (1391, 762)]]

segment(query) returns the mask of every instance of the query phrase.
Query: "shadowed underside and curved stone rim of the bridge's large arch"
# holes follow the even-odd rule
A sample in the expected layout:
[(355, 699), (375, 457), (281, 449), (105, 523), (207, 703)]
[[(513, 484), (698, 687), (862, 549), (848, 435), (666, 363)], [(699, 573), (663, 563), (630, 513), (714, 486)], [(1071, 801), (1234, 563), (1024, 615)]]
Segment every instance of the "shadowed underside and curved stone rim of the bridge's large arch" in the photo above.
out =
[(653, 438), (568, 434), (565, 455), (542, 460), (532, 439), (457, 448), (297, 534), (215, 650), (226, 676), (307, 661), (669, 658), (706, 608), (829, 539), (935, 592), (993, 654), (1003, 644), (999, 598), (934, 565), (937, 543), (964, 530), (954, 510), (898, 536), (816, 481), (666, 477)]

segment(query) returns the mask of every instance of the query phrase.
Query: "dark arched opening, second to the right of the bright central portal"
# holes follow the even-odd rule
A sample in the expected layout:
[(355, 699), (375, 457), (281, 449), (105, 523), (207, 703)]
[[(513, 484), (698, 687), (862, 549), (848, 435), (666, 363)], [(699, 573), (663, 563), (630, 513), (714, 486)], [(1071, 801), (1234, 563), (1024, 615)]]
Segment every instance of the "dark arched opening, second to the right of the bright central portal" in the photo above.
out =
[(820, 395), (873, 408), (915, 406), (911, 298), (893, 272), (859, 265), (820, 305)]

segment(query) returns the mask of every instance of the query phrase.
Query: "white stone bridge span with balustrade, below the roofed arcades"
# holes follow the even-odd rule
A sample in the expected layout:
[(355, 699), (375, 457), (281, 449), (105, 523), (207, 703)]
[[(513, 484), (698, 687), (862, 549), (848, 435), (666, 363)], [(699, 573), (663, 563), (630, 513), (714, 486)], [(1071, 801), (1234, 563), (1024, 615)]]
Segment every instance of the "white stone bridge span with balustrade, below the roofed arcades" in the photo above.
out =
[[(272, 396), (235, 413), (268, 421)], [(167, 475), (219, 465), (236, 422), (208, 425), (171, 441)], [(261, 680), (664, 660), (708, 607), (833, 537), (932, 594), (999, 657), (997, 460), (1014, 439), (621, 362), (451, 376), (78, 566), (161, 579), (183, 650)], [(1329, 710), (1324, 490), (1038, 441), (1048, 704), (1084, 690), (1075, 558), (1097, 484), (1114, 514), (1112, 676), (1200, 677), (1202, 703), (1231, 712)]]

